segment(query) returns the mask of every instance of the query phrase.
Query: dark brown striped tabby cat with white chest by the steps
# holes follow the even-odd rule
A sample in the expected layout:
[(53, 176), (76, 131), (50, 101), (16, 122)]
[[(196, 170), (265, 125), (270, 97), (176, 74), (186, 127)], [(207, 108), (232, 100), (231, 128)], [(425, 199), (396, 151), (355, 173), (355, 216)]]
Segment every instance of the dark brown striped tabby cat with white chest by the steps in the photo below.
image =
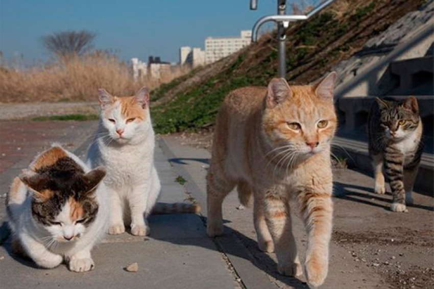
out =
[(392, 189), (393, 212), (406, 212), (423, 151), (422, 121), (416, 97), (402, 101), (376, 97), (368, 117), (369, 155), (375, 192), (384, 194), (383, 167)]

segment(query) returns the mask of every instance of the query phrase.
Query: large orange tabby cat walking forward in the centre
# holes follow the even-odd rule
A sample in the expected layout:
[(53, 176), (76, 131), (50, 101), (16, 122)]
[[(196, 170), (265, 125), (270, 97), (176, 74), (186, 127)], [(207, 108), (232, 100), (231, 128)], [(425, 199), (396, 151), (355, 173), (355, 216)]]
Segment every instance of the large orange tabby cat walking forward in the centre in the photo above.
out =
[(290, 87), (275, 78), (268, 88), (231, 92), (217, 116), (207, 174), (208, 235), (222, 234), (222, 202), (237, 186), (243, 205), (253, 195), (259, 248), (276, 252), (283, 275), (302, 274), (289, 205), (298, 200), (308, 233), (307, 280), (315, 286), (328, 270), (335, 79), (332, 72), (316, 85)]

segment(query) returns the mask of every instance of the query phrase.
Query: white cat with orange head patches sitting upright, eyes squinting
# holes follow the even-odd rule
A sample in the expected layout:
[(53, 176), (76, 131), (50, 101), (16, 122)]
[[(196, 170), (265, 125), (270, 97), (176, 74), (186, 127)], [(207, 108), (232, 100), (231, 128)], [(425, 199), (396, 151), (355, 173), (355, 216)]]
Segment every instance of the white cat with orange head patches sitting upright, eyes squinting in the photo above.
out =
[[(150, 232), (147, 217), (154, 212), (160, 194), (160, 180), (154, 166), (155, 135), (149, 112), (149, 91), (141, 88), (135, 96), (116, 97), (100, 89), (101, 117), (95, 141), (87, 157), (91, 167), (104, 165), (104, 183), (110, 196), (108, 233), (133, 235)], [(165, 204), (159, 212), (196, 213), (198, 205)], [(154, 209), (154, 211), (153, 211)]]

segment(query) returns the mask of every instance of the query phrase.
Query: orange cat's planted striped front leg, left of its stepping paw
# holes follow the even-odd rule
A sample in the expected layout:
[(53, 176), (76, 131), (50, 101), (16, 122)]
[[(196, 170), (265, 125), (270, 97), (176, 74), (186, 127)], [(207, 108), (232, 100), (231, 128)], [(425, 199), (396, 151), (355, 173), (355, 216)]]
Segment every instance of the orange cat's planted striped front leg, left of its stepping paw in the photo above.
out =
[(264, 203), (264, 215), (277, 256), (277, 271), (286, 276), (302, 275), (288, 200), (268, 192), (263, 200), (258, 201)]

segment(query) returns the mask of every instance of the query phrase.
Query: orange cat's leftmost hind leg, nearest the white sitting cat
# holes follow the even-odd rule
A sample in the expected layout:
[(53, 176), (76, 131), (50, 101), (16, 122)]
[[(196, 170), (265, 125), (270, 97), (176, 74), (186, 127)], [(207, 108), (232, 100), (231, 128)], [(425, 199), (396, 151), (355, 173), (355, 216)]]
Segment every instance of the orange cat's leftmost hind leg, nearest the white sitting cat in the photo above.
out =
[(225, 197), (235, 187), (235, 182), (215, 172), (212, 165), (206, 175), (206, 180), (207, 232), (209, 237), (215, 237), (223, 233), (222, 204)]

